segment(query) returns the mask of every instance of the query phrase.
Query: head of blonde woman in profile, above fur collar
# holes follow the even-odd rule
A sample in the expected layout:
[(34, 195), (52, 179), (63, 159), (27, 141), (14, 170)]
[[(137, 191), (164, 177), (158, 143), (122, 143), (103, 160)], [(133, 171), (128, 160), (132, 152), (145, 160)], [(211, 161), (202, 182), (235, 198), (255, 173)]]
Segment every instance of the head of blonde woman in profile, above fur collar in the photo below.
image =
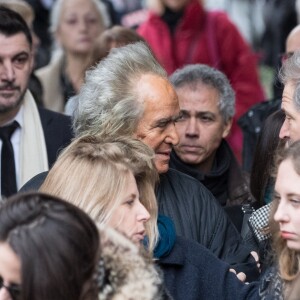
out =
[(136, 244), (147, 236), (151, 253), (158, 239), (152, 158), (152, 150), (137, 140), (83, 137), (59, 156), (40, 190), (72, 202)]

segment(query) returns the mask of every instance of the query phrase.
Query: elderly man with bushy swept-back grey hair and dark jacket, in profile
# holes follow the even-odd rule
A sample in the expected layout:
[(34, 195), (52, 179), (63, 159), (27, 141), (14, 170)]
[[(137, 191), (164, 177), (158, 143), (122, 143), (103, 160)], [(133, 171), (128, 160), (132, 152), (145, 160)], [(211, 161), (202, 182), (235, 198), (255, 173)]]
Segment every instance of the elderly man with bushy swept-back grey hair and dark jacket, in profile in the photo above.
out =
[(194, 178), (169, 169), (180, 118), (177, 94), (165, 70), (139, 42), (113, 49), (87, 72), (73, 127), (76, 136), (128, 135), (150, 146), (160, 174), (160, 214), (174, 221), (178, 235), (198, 241), (251, 280), (257, 275), (255, 261), (212, 194)]

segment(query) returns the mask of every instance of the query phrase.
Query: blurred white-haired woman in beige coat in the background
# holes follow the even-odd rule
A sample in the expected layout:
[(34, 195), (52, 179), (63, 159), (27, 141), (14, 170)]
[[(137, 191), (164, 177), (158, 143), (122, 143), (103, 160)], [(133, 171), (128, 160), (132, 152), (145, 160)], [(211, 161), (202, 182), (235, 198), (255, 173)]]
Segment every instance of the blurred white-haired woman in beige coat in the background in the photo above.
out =
[(95, 63), (96, 38), (108, 24), (101, 1), (55, 1), (50, 31), (56, 48), (50, 63), (36, 72), (46, 108), (63, 112), (66, 101), (78, 93), (85, 71)]

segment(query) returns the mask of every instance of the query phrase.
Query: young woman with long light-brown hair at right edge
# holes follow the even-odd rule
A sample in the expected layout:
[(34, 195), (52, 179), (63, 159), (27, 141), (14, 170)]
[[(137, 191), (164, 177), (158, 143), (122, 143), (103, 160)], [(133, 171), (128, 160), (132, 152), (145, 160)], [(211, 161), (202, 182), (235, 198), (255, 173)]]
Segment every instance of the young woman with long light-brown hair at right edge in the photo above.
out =
[(300, 299), (300, 141), (279, 155), (271, 228), (276, 267), (262, 280), (261, 299)]

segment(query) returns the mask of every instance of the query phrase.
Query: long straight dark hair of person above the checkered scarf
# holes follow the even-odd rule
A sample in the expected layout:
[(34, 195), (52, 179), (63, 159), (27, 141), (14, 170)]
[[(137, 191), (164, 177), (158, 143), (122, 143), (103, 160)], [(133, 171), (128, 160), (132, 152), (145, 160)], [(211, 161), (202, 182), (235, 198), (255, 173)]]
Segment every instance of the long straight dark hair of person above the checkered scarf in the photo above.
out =
[(250, 190), (259, 206), (263, 206), (268, 184), (272, 183), (272, 173), (277, 149), (281, 147), (280, 128), (285, 114), (282, 110), (275, 111), (266, 119), (258, 137), (254, 151), (250, 176)]

